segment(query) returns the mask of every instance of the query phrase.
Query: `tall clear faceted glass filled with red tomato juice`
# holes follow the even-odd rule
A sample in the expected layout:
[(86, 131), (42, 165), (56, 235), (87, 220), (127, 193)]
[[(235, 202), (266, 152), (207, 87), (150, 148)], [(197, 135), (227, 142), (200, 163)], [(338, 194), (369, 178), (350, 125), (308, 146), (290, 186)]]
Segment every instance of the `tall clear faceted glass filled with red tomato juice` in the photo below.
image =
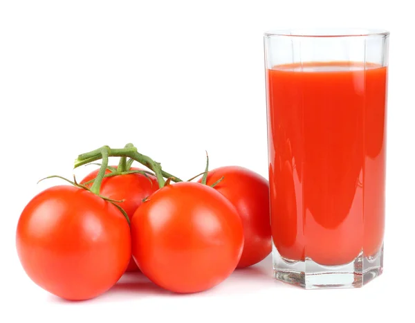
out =
[(273, 266), (304, 288), (382, 273), (389, 33), (264, 35)]

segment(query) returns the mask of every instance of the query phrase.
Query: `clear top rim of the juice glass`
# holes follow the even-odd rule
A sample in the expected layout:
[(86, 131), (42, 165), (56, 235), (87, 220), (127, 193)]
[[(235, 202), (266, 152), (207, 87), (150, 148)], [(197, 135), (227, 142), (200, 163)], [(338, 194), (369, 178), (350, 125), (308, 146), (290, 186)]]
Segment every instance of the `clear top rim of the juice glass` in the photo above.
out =
[(369, 37), (389, 36), (385, 29), (367, 28), (293, 28), (270, 30), (264, 33), (264, 37)]

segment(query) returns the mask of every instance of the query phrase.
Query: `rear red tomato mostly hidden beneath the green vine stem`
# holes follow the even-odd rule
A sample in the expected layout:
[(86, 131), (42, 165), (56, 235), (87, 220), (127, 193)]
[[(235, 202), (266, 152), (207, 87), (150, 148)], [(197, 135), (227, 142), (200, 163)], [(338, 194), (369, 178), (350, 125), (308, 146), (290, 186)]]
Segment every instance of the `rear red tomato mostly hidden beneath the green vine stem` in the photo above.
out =
[[(116, 167), (116, 166), (113, 166)], [(138, 170), (139, 168), (131, 167), (131, 170)], [(99, 169), (86, 175), (81, 181), (86, 183), (91, 179), (94, 179), (99, 172)], [(107, 173), (110, 171), (107, 170)], [(91, 184), (89, 184), (91, 185)], [(87, 185), (88, 186), (88, 185)], [(136, 174), (124, 174), (104, 178), (101, 184), (100, 194), (109, 199), (116, 201), (122, 201), (118, 203), (120, 207), (127, 212), (129, 219), (136, 212), (137, 208), (141, 205), (142, 200), (147, 196), (150, 196), (158, 190), (157, 179), (154, 176), (136, 173)], [(126, 271), (138, 271), (138, 267), (133, 258), (130, 259), (129, 265)]]

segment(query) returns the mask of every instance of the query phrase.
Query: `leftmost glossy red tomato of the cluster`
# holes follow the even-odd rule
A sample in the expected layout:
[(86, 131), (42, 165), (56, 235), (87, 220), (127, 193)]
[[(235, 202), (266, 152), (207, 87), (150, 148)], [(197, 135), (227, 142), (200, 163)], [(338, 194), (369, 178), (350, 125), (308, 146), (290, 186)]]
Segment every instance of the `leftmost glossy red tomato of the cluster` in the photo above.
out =
[(78, 187), (50, 187), (24, 208), (17, 254), (37, 285), (70, 300), (96, 297), (122, 276), (131, 257), (127, 220), (111, 203)]

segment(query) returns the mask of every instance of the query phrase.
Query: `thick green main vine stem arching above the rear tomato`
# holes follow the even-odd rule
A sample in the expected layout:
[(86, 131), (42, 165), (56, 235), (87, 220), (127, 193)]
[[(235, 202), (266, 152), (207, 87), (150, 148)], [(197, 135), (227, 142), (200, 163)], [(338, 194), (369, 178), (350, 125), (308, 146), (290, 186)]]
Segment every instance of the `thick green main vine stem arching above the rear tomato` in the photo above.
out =
[[(181, 182), (180, 178), (172, 174), (169, 174), (167, 172), (164, 172), (161, 169), (160, 163), (157, 163), (156, 161), (152, 160), (151, 158), (149, 158), (149, 156), (140, 154), (137, 151), (136, 147), (128, 147), (128, 148), (122, 148), (122, 149), (108, 149), (108, 156), (111, 156), (111, 157), (126, 156), (133, 160), (138, 161), (138, 163), (140, 163), (141, 165), (148, 167), (154, 172), (154, 174), (156, 174), (159, 187), (163, 187), (165, 185), (164, 178), (172, 177), (172, 181)], [(102, 151), (100, 151), (100, 149), (95, 149), (94, 151), (90, 151), (89, 153), (78, 156), (78, 158), (75, 160), (74, 168), (80, 167), (81, 165), (85, 165), (86, 163), (91, 163), (100, 158), (102, 158)]]

